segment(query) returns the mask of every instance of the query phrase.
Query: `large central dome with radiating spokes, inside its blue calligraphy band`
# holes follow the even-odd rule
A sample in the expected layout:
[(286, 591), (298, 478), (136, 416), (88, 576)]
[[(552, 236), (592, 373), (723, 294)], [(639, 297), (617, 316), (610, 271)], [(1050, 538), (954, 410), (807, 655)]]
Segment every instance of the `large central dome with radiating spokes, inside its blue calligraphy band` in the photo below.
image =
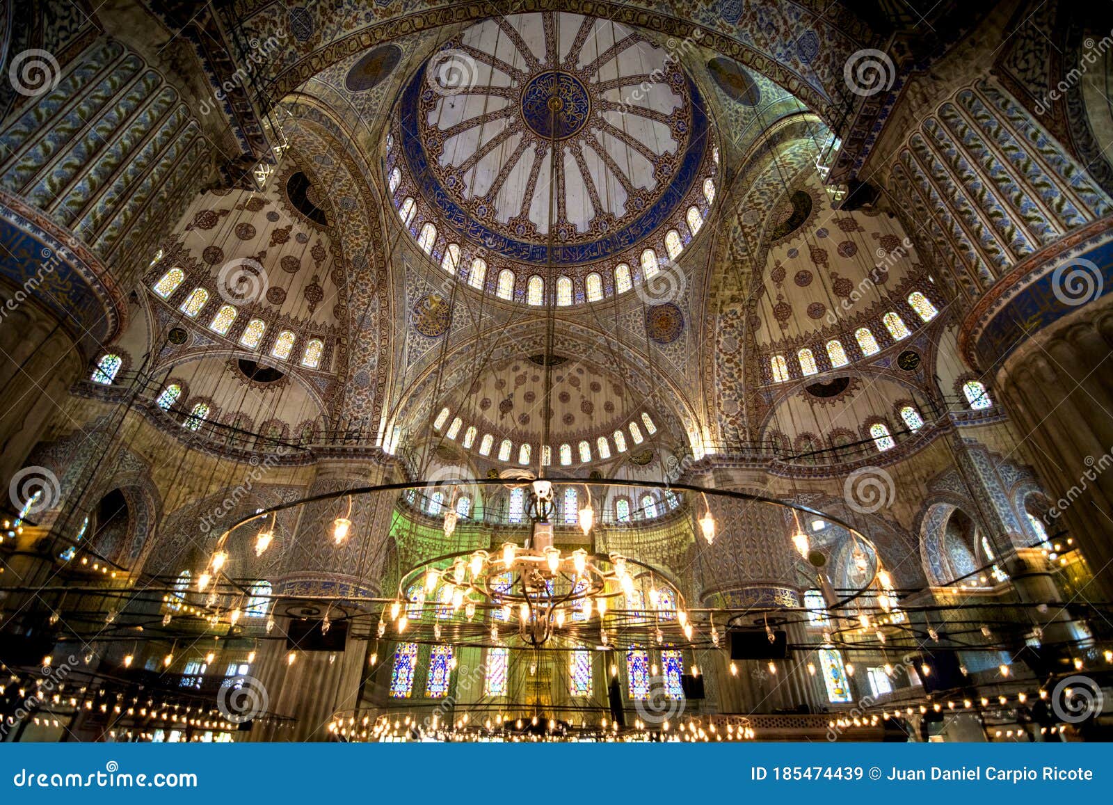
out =
[(388, 164), (403, 168), (400, 194), (422, 202), (417, 218), (519, 264), (618, 258), (677, 226), (693, 199), (705, 206), (715, 173), (696, 85), (609, 20), (474, 24), (417, 70), (397, 112), (401, 158)]

